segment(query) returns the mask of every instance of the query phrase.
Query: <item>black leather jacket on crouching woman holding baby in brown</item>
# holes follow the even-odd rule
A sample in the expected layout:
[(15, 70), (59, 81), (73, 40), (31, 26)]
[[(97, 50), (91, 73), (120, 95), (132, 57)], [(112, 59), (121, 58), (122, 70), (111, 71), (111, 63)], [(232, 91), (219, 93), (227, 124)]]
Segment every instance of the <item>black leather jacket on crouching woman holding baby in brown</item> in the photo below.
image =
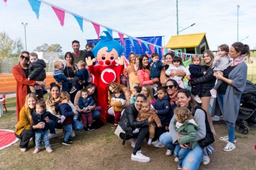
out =
[(149, 121), (144, 120), (141, 122), (137, 122), (135, 119), (137, 118), (138, 111), (135, 108), (135, 103), (129, 105), (128, 107), (125, 108), (122, 118), (119, 121), (119, 125), (121, 128), (127, 133), (128, 135), (133, 135), (133, 131), (135, 128), (140, 128), (140, 127), (148, 127), (149, 126)]

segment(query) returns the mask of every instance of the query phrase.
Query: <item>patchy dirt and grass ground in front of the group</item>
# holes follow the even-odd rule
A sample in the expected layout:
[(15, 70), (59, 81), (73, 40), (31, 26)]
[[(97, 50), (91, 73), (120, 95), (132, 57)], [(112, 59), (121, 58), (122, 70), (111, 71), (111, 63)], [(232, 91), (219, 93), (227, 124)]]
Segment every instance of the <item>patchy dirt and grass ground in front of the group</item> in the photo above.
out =
[[(15, 110), (8, 110), (0, 118), (0, 129), (14, 130), (16, 124)], [(71, 146), (62, 145), (62, 131), (57, 130), (57, 138), (50, 139), (53, 153), (47, 153), (41, 146), (38, 154), (32, 154), (33, 143), (30, 141), (28, 151), (19, 151), (19, 141), (0, 151), (0, 169), (177, 169), (174, 156), (166, 156), (167, 148), (154, 148), (147, 145), (146, 140), (142, 146), (142, 153), (151, 158), (149, 163), (140, 163), (131, 160), (133, 148), (131, 142), (126, 141), (122, 145), (122, 140), (114, 134), (112, 125), (106, 123), (102, 128), (85, 133), (76, 132)], [(224, 152), (222, 149), (225, 142), (218, 140), (219, 136), (227, 134), (224, 124), (214, 124), (217, 136), (215, 136), (214, 152), (210, 156), (211, 162), (208, 165), (201, 165), (200, 170), (241, 170), (256, 169), (254, 167), (254, 149), (256, 141), (256, 126), (250, 127), (247, 135), (240, 134), (236, 129), (236, 149), (232, 152)]]

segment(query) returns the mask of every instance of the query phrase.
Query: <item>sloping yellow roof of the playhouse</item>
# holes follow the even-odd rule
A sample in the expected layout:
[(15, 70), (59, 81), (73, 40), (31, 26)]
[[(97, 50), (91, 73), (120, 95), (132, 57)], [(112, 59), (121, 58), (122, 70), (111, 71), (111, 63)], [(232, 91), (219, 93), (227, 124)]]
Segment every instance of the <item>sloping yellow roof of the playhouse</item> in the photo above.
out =
[(206, 33), (174, 35), (171, 36), (171, 39), (169, 40), (165, 48), (179, 49), (198, 47), (205, 35)]

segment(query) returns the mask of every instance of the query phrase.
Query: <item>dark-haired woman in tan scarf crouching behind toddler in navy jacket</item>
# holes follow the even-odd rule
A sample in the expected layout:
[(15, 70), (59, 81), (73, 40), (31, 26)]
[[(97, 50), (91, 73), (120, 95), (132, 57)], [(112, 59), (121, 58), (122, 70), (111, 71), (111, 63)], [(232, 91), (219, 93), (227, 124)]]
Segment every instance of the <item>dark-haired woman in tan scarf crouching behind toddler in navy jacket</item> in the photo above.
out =
[[(55, 116), (59, 117), (59, 114), (55, 112), (55, 106), (59, 103), (59, 94), (60, 94), (60, 86), (55, 84), (55, 83), (51, 83), (50, 84), (50, 95), (46, 100), (46, 110), (48, 112), (50, 112), (51, 114), (54, 114)], [(48, 134), (48, 138), (55, 138), (56, 134), (55, 134), (55, 128), (56, 129), (62, 129), (62, 125), (56, 123), (55, 121), (50, 121), (49, 123), (49, 130), (50, 133)], [(72, 133), (71, 133), (71, 137), (75, 136), (75, 130), (79, 131), (83, 129), (83, 124), (80, 121), (74, 121), (72, 123)]]

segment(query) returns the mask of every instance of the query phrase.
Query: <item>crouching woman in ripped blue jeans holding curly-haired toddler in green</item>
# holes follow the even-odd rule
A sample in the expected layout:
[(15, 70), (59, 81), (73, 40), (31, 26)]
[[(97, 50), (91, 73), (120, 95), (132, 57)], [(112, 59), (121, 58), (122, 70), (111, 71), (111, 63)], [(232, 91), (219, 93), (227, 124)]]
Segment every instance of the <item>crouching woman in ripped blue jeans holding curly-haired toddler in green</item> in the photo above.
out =
[[(177, 94), (177, 102), (180, 107), (186, 107), (191, 112), (194, 111), (196, 106), (195, 101), (191, 97), (191, 93), (187, 89), (181, 89), (178, 91)], [(198, 108), (195, 110), (194, 115), (195, 121), (198, 123), (199, 127), (197, 130), (195, 141), (199, 141), (203, 139), (206, 135), (206, 126), (205, 126), (205, 112), (204, 110)], [(169, 132), (162, 134), (159, 137), (160, 143), (169, 147), (172, 151), (175, 151), (175, 146), (179, 145), (181, 148), (187, 148), (187, 145), (178, 143), (178, 139), (182, 136), (181, 134), (177, 134), (175, 127), (173, 126), (175, 116), (173, 116), (170, 125), (169, 125)], [(189, 151), (182, 162), (182, 168), (187, 169), (198, 169), (203, 157), (203, 149), (202, 147), (197, 144), (196, 147)]]

